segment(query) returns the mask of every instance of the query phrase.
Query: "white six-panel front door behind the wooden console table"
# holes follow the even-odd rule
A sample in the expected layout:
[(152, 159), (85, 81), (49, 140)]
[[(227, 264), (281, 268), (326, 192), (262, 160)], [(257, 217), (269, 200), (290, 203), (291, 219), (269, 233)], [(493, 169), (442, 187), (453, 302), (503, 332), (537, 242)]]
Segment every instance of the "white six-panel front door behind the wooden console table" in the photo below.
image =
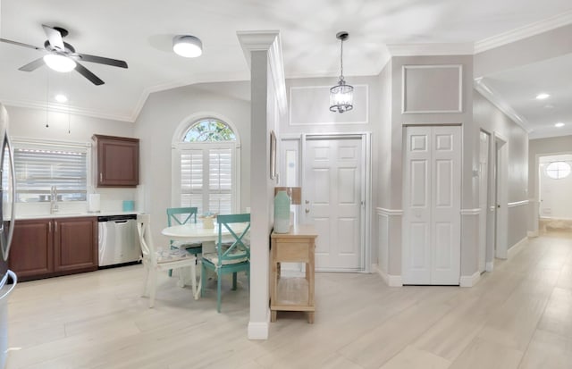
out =
[(318, 233), (316, 271), (364, 269), (364, 144), (360, 136), (306, 139), (301, 213)]

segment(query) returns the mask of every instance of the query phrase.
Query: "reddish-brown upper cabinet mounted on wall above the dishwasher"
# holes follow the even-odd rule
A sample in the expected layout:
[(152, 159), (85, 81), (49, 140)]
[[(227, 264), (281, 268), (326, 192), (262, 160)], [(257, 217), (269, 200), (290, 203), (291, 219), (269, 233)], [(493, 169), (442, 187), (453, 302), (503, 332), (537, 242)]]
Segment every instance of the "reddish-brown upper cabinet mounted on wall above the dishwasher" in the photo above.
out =
[(139, 185), (139, 138), (93, 135), (97, 155), (97, 187)]

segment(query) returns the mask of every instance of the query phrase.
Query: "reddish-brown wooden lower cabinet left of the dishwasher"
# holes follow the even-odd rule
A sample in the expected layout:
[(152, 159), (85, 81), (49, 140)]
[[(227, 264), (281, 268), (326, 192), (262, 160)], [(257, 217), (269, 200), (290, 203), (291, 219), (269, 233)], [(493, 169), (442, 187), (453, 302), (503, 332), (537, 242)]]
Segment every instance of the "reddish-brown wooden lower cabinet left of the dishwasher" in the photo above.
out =
[(97, 218), (15, 222), (8, 265), (21, 281), (97, 270)]

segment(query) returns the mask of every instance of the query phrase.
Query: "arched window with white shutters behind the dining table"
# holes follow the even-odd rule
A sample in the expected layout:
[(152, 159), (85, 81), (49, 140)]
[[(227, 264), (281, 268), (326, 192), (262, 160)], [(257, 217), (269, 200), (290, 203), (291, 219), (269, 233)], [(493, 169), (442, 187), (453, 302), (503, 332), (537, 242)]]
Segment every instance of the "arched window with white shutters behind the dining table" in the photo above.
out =
[(238, 208), (237, 135), (221, 120), (193, 122), (180, 141), (181, 206), (198, 214), (232, 214)]

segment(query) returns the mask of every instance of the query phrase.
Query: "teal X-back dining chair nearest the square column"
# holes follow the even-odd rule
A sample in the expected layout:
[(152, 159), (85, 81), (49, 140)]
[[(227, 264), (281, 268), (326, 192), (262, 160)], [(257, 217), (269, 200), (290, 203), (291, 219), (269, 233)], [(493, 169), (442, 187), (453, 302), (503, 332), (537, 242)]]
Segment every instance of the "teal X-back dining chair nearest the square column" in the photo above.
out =
[[(214, 253), (203, 254), (201, 267), (201, 296), (206, 286), (206, 270), (216, 273), (216, 311), (221, 312), (222, 281), (232, 273), (232, 290), (237, 288), (237, 273), (246, 272), (250, 284), (250, 214), (227, 214), (216, 217), (218, 239)], [(240, 224), (241, 223), (241, 224)], [(240, 229), (240, 231), (238, 231)], [(232, 242), (229, 242), (229, 240)]]

